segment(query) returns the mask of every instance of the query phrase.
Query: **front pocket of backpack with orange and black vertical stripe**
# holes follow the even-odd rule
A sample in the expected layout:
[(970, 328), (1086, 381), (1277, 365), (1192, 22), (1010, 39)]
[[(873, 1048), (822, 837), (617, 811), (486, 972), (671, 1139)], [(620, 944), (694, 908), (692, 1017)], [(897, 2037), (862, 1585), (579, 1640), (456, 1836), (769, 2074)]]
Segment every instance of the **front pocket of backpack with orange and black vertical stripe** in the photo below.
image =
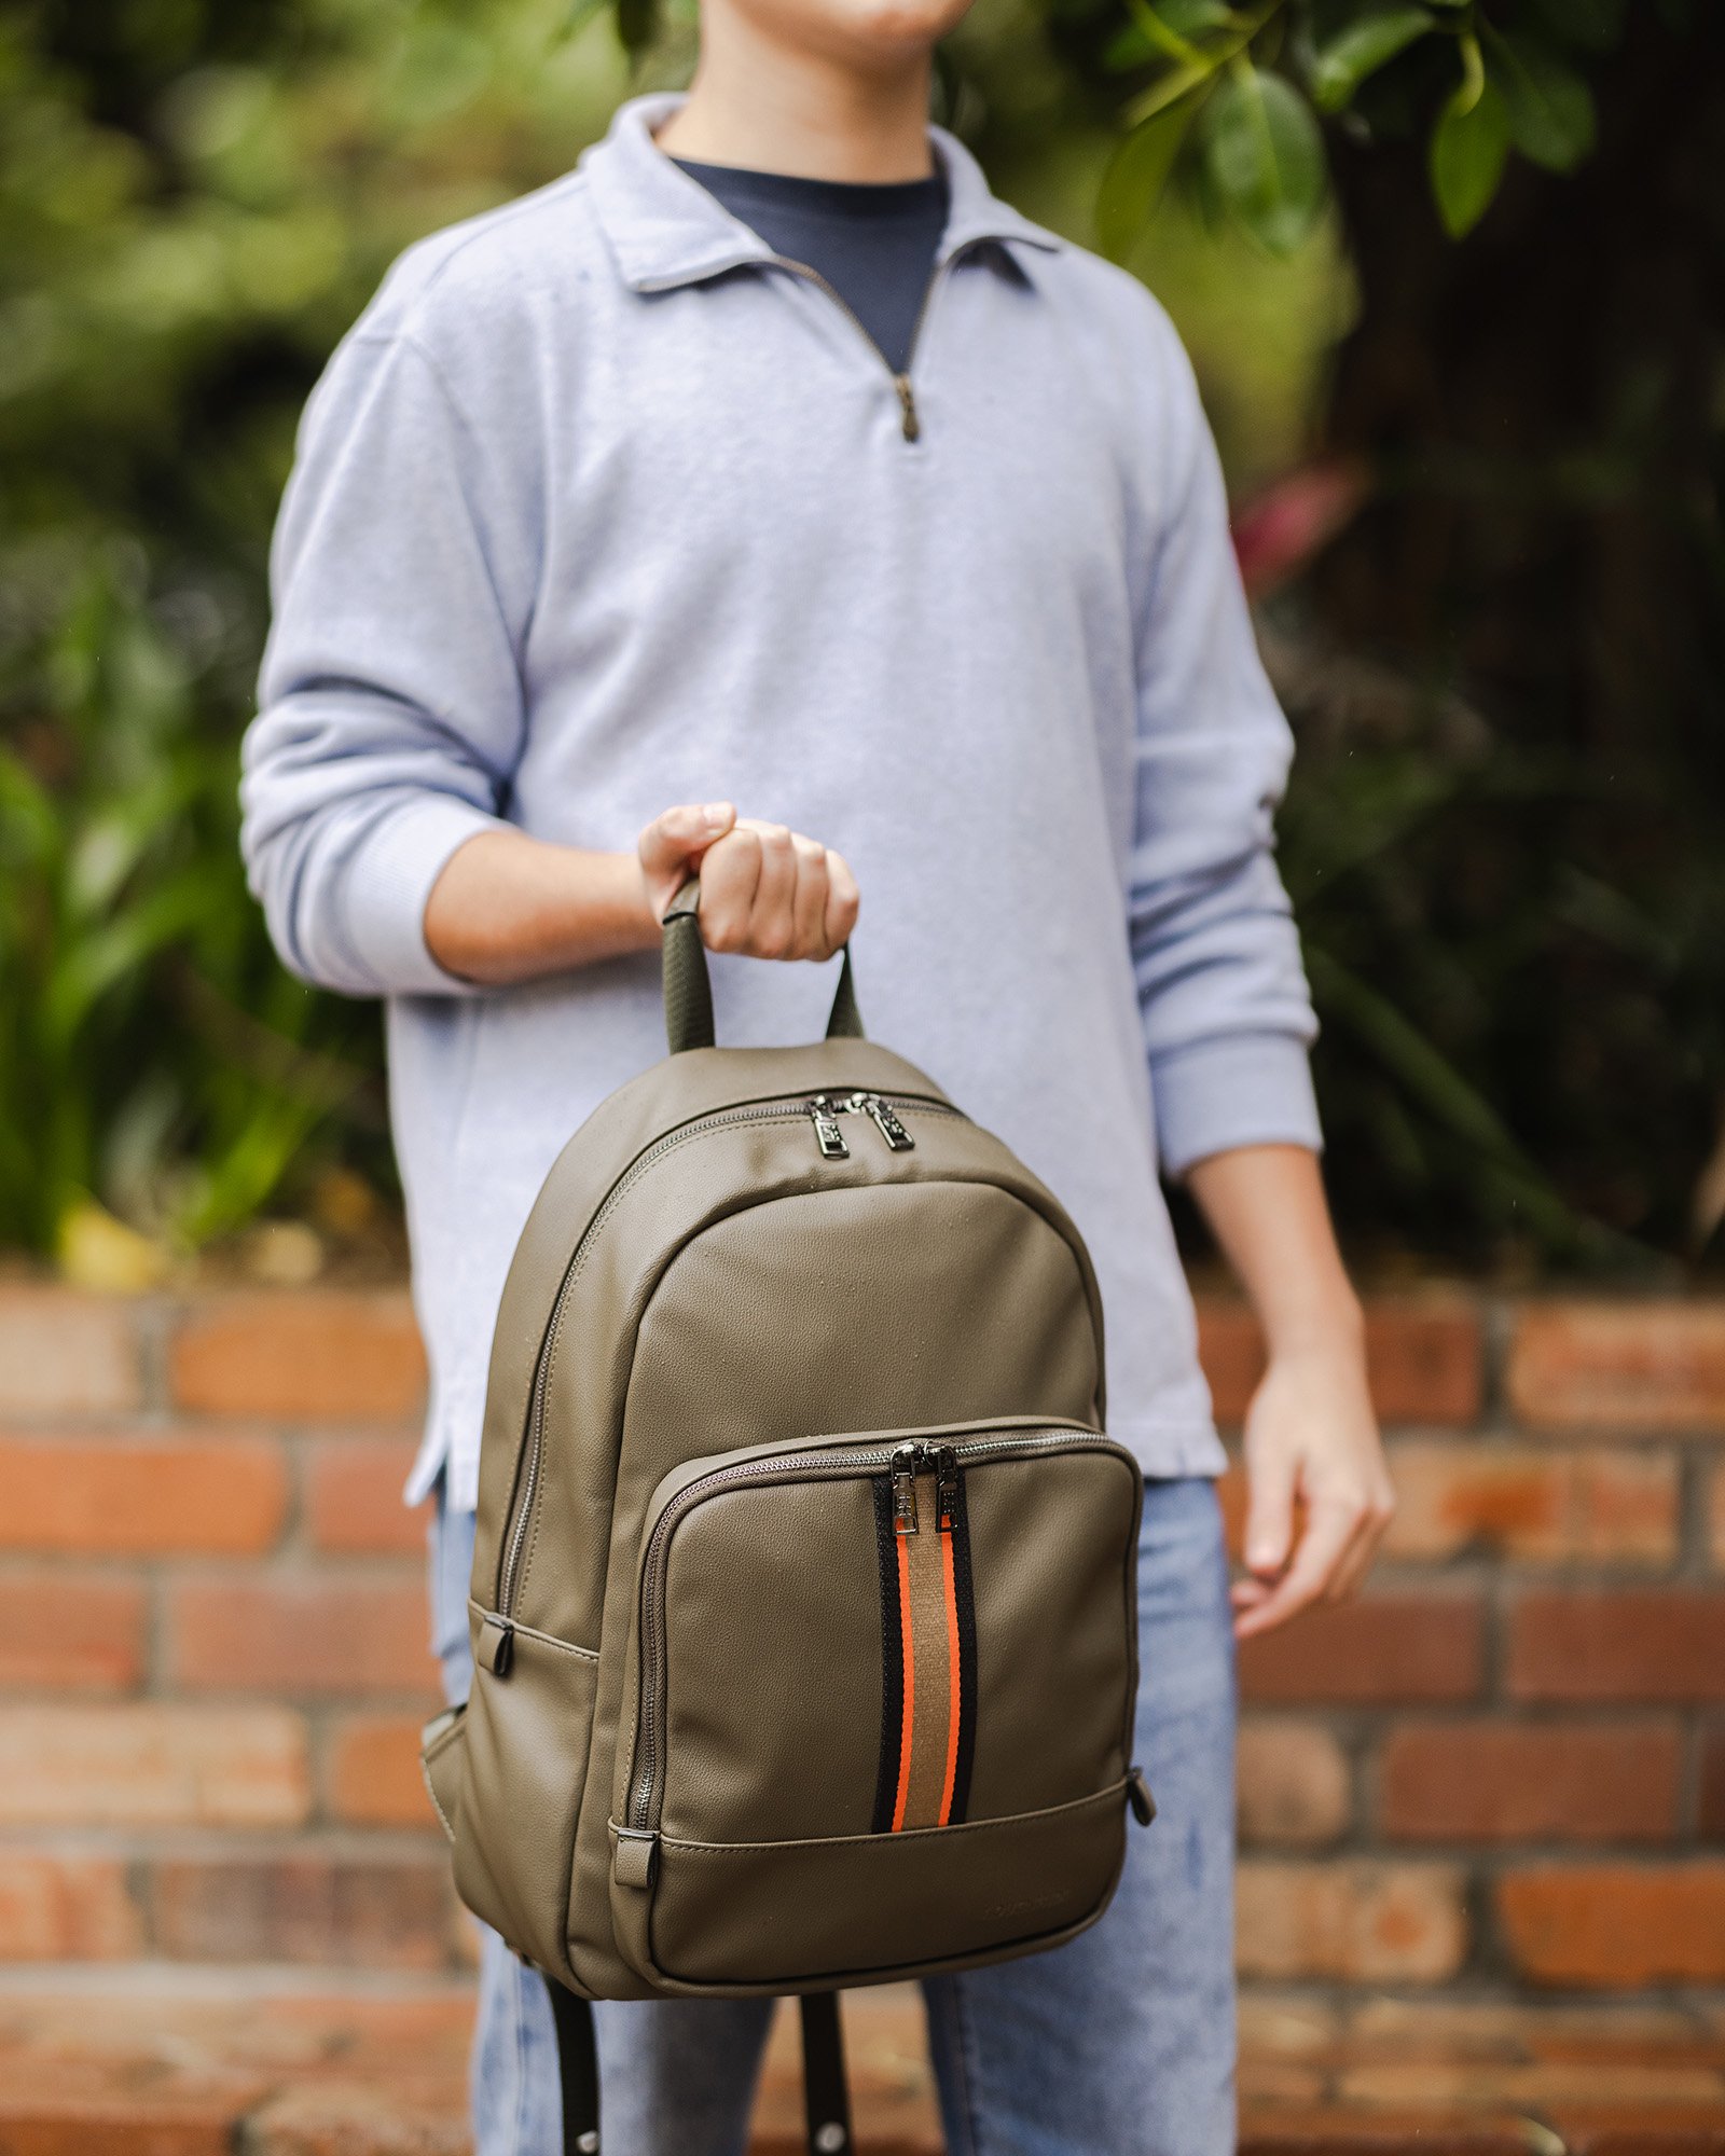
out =
[(1141, 1488), (1121, 1447), (1046, 1421), (671, 1477), (612, 1792), (638, 1973), (806, 1984), (1095, 1915), (1121, 1839)]

